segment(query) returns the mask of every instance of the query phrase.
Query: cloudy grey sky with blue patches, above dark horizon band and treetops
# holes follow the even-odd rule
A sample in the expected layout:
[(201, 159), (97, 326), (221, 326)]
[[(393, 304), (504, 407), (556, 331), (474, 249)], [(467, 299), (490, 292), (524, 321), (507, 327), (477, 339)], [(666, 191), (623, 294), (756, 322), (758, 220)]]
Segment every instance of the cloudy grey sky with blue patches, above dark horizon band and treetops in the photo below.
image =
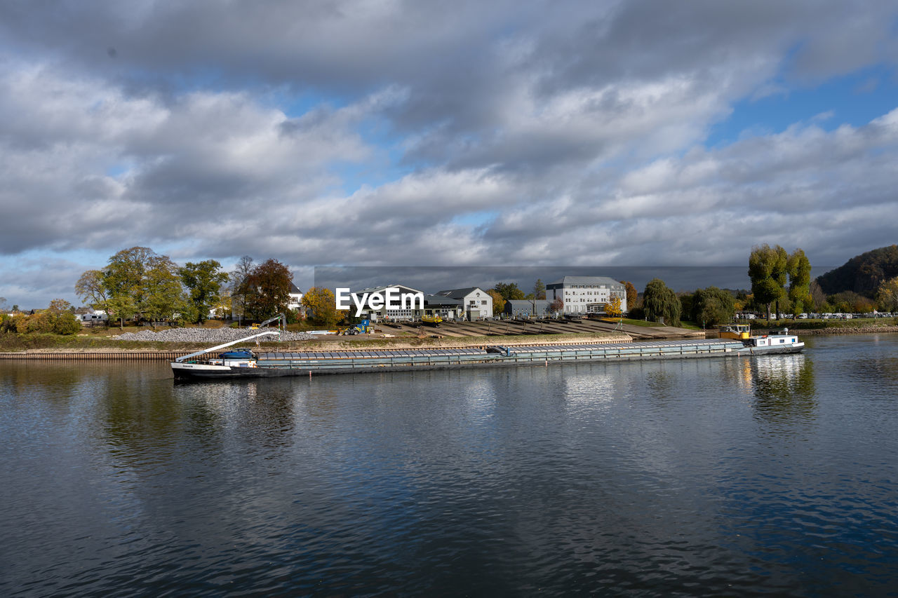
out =
[(894, 2), (4, 2), (0, 296), (134, 245), (839, 265), (896, 242), (896, 59)]

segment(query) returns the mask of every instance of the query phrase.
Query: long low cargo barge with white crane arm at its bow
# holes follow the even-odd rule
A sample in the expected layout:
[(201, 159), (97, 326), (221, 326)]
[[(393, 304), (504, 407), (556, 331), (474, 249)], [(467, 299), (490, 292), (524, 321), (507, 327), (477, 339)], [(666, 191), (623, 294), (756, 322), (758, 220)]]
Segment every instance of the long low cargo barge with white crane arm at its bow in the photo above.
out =
[[(264, 334), (276, 334), (263, 332)], [(252, 339), (255, 337), (249, 337)], [(243, 339), (245, 340), (245, 339)], [(234, 341), (234, 343), (239, 341)], [(234, 344), (228, 343), (228, 345)], [(225, 345), (227, 346), (227, 345)], [(696, 357), (750, 356), (757, 349), (735, 339), (660, 340), (647, 342), (595, 343), (584, 345), (524, 345), (515, 347), (458, 347), (357, 349), (341, 351), (254, 352), (237, 350), (215, 358), (203, 354), (212, 347), (176, 359), (172, 372), (178, 379), (262, 378), (312, 374), (360, 374), (408, 372), (462, 367), (550, 365), (635, 359), (685, 359)], [(795, 353), (803, 343), (785, 342), (764, 353)], [(195, 358), (196, 357), (196, 358)]]

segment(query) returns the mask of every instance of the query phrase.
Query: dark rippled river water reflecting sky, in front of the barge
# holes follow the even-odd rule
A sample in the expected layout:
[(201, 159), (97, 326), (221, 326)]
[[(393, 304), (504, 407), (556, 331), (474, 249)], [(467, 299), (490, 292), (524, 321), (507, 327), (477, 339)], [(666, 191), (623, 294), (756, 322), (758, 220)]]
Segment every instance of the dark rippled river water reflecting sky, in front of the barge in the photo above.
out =
[(886, 595), (898, 335), (172, 383), (0, 362), (0, 595)]

